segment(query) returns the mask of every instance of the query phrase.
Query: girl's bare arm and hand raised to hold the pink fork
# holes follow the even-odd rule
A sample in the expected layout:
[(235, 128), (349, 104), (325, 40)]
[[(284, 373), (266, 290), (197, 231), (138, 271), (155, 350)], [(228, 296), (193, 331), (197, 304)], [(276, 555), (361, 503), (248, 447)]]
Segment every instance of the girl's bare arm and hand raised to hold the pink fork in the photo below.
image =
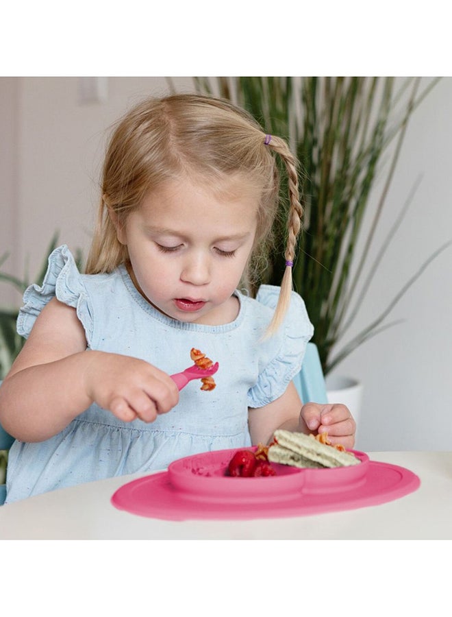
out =
[(151, 422), (178, 398), (173, 380), (149, 363), (86, 350), (75, 309), (53, 299), (0, 387), (0, 422), (16, 439), (42, 441), (92, 402), (120, 420)]

